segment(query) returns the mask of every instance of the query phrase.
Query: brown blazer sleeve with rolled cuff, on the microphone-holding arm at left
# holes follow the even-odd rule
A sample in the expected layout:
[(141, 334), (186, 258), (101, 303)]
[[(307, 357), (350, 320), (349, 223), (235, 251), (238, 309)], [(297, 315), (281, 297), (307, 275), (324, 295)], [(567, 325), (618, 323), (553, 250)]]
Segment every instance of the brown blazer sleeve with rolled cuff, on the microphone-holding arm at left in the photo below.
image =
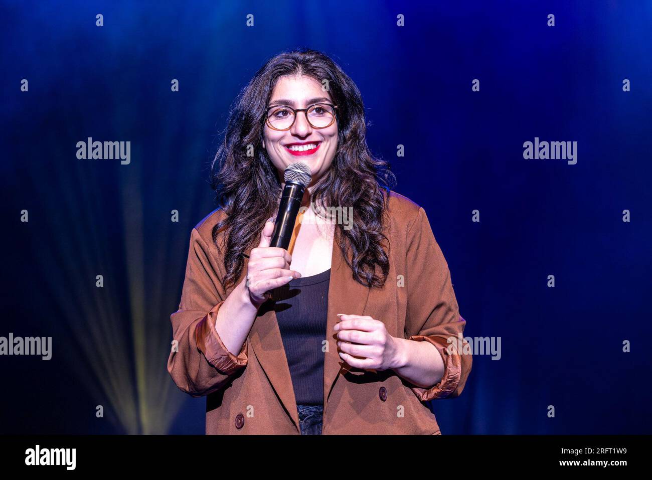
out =
[(179, 309), (170, 316), (173, 342), (168, 372), (177, 387), (193, 397), (212, 393), (246, 367), (248, 342), (234, 355), (215, 330), (226, 292), (216, 250), (194, 228)]

